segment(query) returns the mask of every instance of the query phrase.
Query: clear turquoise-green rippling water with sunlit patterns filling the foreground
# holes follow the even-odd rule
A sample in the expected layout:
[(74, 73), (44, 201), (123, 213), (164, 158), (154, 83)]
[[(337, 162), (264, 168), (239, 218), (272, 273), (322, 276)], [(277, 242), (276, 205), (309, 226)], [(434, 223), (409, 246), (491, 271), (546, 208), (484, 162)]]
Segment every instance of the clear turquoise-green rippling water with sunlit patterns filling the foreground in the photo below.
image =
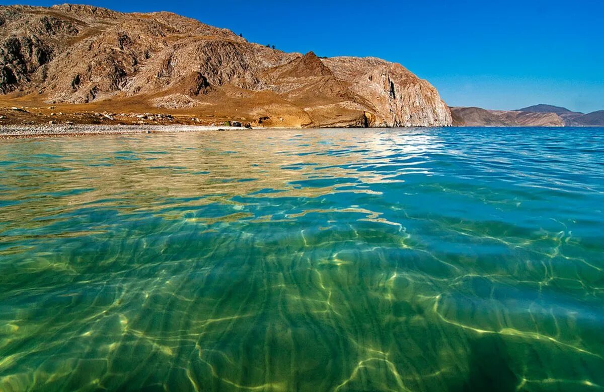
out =
[(604, 389), (604, 129), (0, 143), (1, 391)]

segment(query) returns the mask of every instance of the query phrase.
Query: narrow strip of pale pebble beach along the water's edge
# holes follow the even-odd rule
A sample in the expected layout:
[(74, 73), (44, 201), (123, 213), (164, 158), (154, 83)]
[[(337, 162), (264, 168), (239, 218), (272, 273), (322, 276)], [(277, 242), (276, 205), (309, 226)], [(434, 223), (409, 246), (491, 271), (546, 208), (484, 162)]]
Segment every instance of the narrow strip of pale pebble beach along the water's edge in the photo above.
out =
[(248, 129), (235, 126), (208, 125), (0, 125), (0, 139), (246, 130)]

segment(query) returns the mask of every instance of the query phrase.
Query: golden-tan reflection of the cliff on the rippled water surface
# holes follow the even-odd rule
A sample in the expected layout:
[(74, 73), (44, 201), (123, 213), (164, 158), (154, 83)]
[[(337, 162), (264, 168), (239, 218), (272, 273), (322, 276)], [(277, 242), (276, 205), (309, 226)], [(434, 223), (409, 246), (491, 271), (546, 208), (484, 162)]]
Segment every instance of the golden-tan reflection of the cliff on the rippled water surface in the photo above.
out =
[[(52, 196), (57, 206), (98, 203), (100, 195), (113, 195), (125, 209), (135, 200), (153, 209), (154, 202), (164, 198), (175, 198), (177, 205), (185, 206), (217, 200), (232, 203), (228, 200), (233, 196), (255, 192), (262, 197), (317, 197), (351, 187), (372, 192), (371, 183), (395, 180), (389, 165), (400, 162), (391, 162), (393, 155), (405, 154), (411, 163), (408, 172), (416, 172), (422, 164), (420, 170), (428, 173), (423, 154), (439, 148), (437, 139), (421, 130), (202, 132), (30, 140), (14, 145), (11, 156), (31, 159), (30, 174), (19, 178), (19, 186), (33, 187), (31, 191), (40, 197)], [(47, 155), (49, 145), (52, 154)], [(398, 180), (404, 173), (397, 172)], [(305, 186), (297, 181), (306, 181)], [(124, 189), (129, 192), (120, 194)], [(36, 211), (36, 203), (14, 211), (8, 206), (4, 213), (17, 217), (23, 208)]]

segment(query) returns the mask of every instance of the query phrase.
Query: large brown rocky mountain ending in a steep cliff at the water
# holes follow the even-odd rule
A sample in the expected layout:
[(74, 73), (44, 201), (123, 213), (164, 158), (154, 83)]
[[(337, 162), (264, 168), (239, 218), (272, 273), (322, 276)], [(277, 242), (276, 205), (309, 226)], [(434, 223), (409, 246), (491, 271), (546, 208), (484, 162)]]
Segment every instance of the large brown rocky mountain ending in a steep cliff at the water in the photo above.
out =
[(0, 7), (0, 105), (263, 126), (446, 126), (426, 80), (376, 58), (284, 53), (173, 13)]

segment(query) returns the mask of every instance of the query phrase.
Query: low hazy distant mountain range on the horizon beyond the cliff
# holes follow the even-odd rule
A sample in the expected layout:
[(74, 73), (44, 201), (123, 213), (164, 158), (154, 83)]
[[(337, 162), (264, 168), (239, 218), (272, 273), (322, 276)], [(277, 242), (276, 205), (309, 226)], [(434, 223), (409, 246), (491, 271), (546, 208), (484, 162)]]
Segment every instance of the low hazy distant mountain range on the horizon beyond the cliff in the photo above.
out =
[(585, 114), (543, 103), (518, 110), (450, 109), (454, 126), (604, 126), (604, 110)]

